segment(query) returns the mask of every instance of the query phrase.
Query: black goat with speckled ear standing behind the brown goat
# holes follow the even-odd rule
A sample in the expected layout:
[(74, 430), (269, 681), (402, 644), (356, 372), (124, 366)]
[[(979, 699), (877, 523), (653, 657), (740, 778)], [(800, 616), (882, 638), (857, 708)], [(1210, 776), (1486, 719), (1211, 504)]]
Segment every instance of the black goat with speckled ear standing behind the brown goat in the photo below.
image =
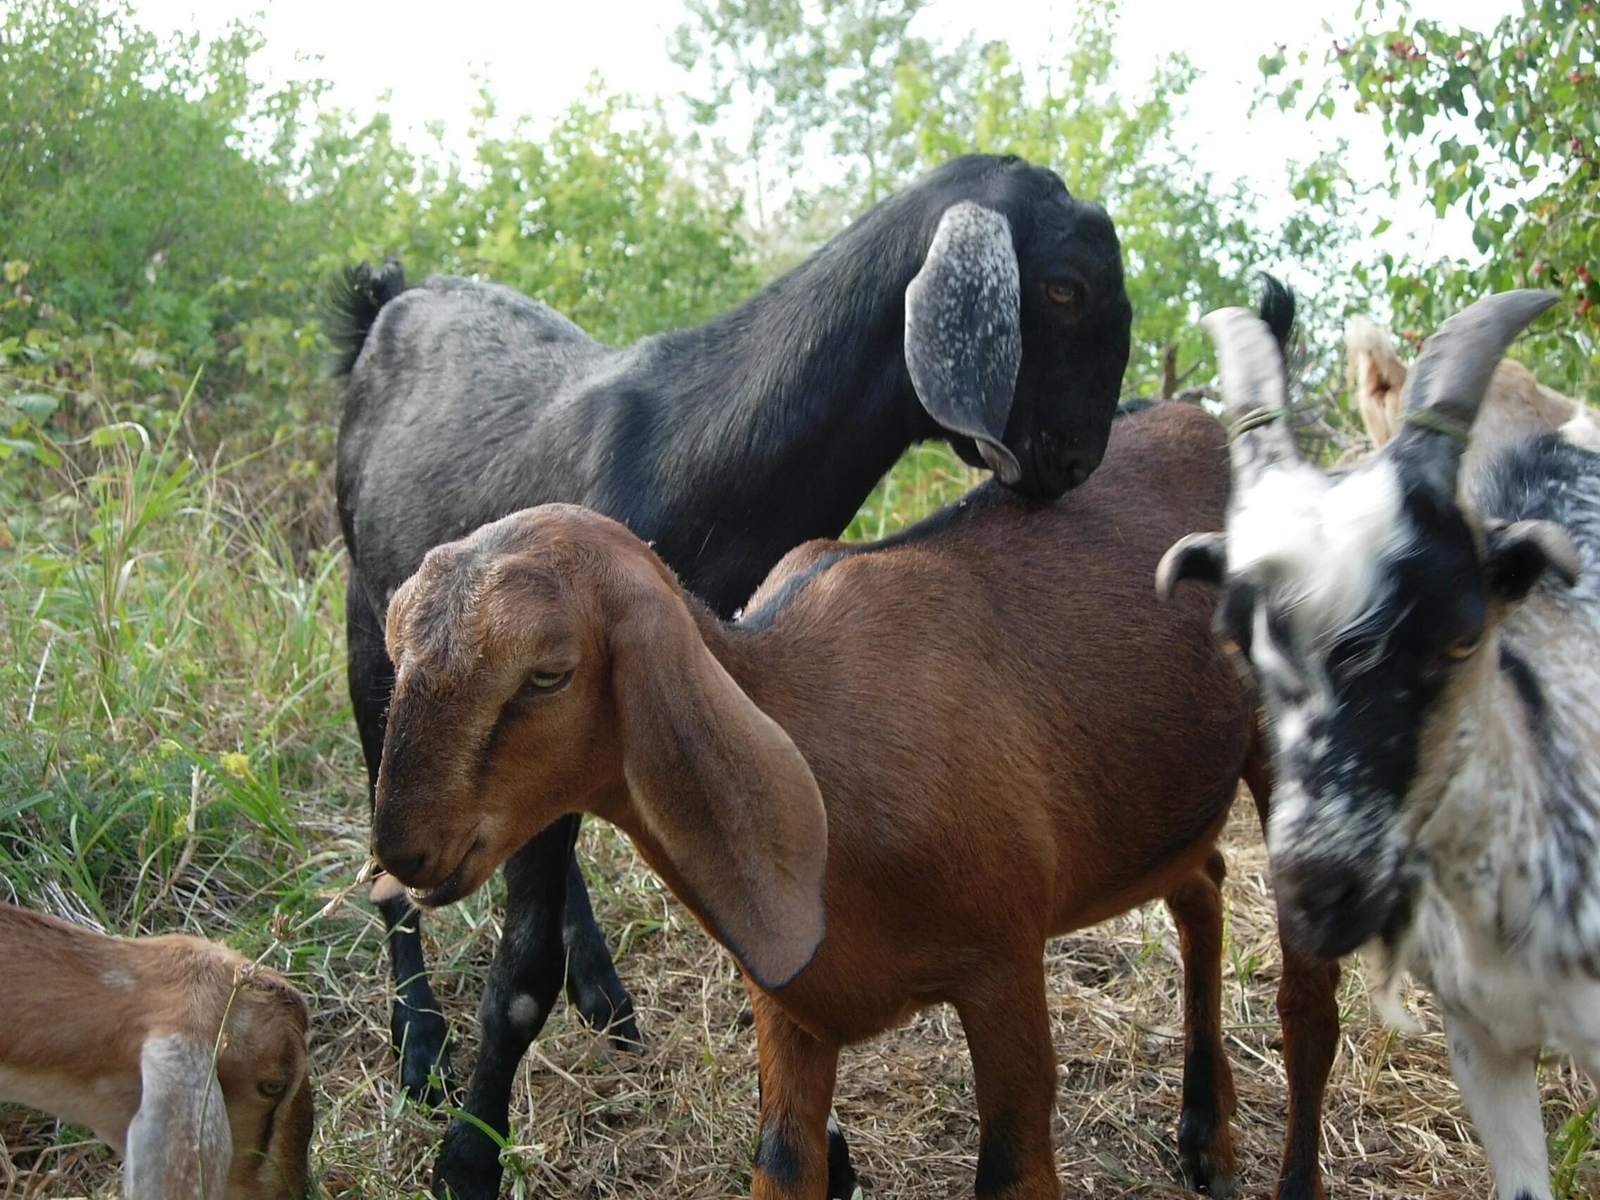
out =
[[(549, 501), (621, 520), (728, 616), (778, 560), (837, 534), (907, 445), (944, 437), (1035, 499), (1099, 464), (1131, 310), (1106, 211), (1018, 158), (968, 155), (890, 197), (731, 312), (600, 346), (485, 283), (403, 290), (358, 267), (341, 296), (350, 381), (339, 517), (350, 552), (349, 672), (370, 779), (394, 667), (384, 608), (434, 546)], [(464, 1107), (506, 1130), (512, 1077), (566, 979), (587, 1021), (638, 1038), (632, 1000), (571, 856), (576, 818), (506, 864), (504, 938)], [(402, 1082), (448, 1074), (416, 914), (374, 893), (400, 998)], [(563, 954), (565, 934), (565, 954)], [(835, 1144), (835, 1190), (848, 1155)], [(451, 1123), (434, 1190), (499, 1184), (493, 1141)]]

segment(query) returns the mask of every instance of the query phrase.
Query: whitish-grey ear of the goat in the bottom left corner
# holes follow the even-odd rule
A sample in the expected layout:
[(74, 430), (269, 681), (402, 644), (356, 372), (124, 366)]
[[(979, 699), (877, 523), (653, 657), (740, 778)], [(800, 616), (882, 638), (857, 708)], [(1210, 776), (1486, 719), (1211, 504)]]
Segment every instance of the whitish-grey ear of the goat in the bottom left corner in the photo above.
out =
[(234, 1134), (211, 1054), (184, 1034), (146, 1038), (122, 1163), (128, 1200), (216, 1200), (227, 1190)]

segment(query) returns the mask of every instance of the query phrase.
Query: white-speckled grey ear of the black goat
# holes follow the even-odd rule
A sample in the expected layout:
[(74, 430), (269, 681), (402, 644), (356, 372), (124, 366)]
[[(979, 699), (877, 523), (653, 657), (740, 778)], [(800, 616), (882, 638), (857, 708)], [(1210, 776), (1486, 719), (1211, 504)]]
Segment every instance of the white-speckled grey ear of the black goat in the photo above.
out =
[(973, 438), (1006, 485), (1022, 478), (1003, 440), (1021, 365), (1022, 280), (1011, 224), (970, 200), (950, 205), (906, 288), (906, 366), (928, 414)]

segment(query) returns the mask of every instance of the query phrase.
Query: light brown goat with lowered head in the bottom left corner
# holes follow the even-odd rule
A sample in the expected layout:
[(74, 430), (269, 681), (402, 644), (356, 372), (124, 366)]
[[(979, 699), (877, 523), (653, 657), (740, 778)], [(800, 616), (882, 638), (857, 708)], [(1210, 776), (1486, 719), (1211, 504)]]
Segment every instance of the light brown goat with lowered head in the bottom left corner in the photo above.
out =
[(200, 938), (107, 938), (0, 904), (0, 1099), (86, 1125), (128, 1200), (302, 1200), (307, 1010)]

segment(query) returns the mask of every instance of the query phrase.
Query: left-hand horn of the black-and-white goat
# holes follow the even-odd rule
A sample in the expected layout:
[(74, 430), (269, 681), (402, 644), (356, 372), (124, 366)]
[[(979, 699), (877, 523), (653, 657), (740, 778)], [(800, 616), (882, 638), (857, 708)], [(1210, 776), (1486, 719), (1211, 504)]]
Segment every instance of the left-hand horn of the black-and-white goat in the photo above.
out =
[(1250, 309), (1218, 309), (1200, 326), (1216, 342), (1235, 480), (1248, 485), (1267, 467), (1298, 462), (1283, 352), (1272, 330)]

